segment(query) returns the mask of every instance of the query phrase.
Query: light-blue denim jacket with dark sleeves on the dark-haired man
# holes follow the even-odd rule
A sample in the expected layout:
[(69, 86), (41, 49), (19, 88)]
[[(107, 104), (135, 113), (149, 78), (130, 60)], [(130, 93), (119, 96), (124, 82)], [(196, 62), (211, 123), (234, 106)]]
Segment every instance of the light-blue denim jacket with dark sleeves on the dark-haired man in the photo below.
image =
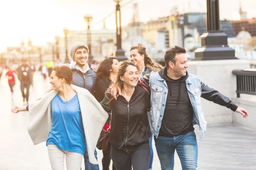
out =
[[(168, 94), (168, 87), (166, 81), (159, 75), (158, 72), (151, 72), (150, 75), (145, 76), (145, 80), (149, 79), (149, 87), (151, 90), (150, 105), (151, 111), (148, 115), (151, 132), (154, 136), (158, 136), (165, 110), (165, 104)], [(209, 88), (201, 82), (198, 76), (189, 74), (186, 79), (186, 88), (189, 94), (189, 99), (193, 107), (193, 125), (198, 124), (200, 127), (200, 139), (204, 137), (206, 132), (207, 122), (204, 119), (204, 113), (201, 108), (201, 97), (217, 103), (218, 105), (226, 106), (232, 111), (236, 111), (238, 106), (234, 104), (228, 97), (220, 94), (213, 88)]]

